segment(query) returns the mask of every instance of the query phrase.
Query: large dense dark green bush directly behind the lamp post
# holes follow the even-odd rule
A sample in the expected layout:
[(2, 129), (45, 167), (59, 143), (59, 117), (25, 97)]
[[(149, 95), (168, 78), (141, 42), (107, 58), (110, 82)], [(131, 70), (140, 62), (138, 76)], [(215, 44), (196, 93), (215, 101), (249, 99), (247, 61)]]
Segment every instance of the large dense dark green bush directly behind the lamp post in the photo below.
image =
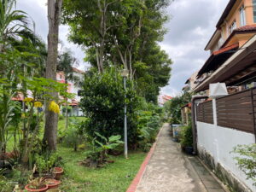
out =
[(135, 111), (138, 98), (132, 89), (131, 81), (127, 80), (126, 100), (123, 78), (115, 68), (106, 68), (102, 74), (94, 69), (85, 74), (83, 96), (80, 106), (89, 120), (84, 124), (84, 131), (91, 138), (97, 137), (95, 131), (103, 137), (124, 135), (124, 106), (127, 105), (128, 141), (137, 143), (137, 117)]

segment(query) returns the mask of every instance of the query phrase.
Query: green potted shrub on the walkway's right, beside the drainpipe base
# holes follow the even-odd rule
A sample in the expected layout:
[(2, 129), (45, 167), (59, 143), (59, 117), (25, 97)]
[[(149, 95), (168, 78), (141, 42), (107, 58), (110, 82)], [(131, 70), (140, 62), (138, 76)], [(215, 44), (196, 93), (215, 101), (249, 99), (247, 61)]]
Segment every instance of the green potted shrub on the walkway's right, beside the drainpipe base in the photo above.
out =
[(193, 154), (193, 133), (191, 124), (182, 127), (181, 146), (184, 152)]

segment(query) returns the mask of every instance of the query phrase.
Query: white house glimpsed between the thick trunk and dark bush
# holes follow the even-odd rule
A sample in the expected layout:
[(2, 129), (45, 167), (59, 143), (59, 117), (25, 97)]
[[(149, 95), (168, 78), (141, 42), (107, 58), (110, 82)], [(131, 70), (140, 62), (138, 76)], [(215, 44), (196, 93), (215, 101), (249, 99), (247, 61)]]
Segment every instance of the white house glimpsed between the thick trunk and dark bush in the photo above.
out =
[[(79, 70), (78, 68), (73, 67), (73, 75), (78, 79), (79, 82), (82, 82), (84, 79), (84, 72)], [(65, 82), (65, 73), (57, 72), (56, 79), (59, 83), (66, 83)], [(72, 100), (68, 100), (68, 105), (71, 107), (71, 111), (69, 113), (70, 116), (82, 116), (83, 112), (81, 108), (79, 108), (79, 102), (81, 100), (81, 96), (79, 96), (79, 92), (81, 90), (81, 86), (79, 82), (73, 82), (68, 80), (67, 81), (67, 92), (73, 93), (74, 98)], [(63, 109), (63, 108), (62, 108)], [(65, 109), (62, 110), (62, 113)]]

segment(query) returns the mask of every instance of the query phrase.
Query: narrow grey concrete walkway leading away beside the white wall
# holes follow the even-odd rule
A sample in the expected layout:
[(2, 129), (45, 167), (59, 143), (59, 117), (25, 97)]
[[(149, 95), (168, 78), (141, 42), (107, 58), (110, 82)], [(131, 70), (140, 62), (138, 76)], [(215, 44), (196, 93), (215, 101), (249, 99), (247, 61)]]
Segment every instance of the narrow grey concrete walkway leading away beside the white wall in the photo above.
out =
[(169, 125), (165, 124), (136, 192), (213, 191), (224, 192), (195, 157), (188, 158), (179, 144), (172, 142)]

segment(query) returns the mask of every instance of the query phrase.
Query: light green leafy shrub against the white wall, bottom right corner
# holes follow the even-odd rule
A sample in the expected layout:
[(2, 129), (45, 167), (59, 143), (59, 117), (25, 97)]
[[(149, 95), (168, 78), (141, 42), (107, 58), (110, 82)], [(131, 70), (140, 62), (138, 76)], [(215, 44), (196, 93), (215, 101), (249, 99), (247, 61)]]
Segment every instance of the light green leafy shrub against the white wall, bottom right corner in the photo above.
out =
[(235, 157), (237, 165), (256, 186), (256, 144), (238, 145), (231, 153), (240, 155)]

